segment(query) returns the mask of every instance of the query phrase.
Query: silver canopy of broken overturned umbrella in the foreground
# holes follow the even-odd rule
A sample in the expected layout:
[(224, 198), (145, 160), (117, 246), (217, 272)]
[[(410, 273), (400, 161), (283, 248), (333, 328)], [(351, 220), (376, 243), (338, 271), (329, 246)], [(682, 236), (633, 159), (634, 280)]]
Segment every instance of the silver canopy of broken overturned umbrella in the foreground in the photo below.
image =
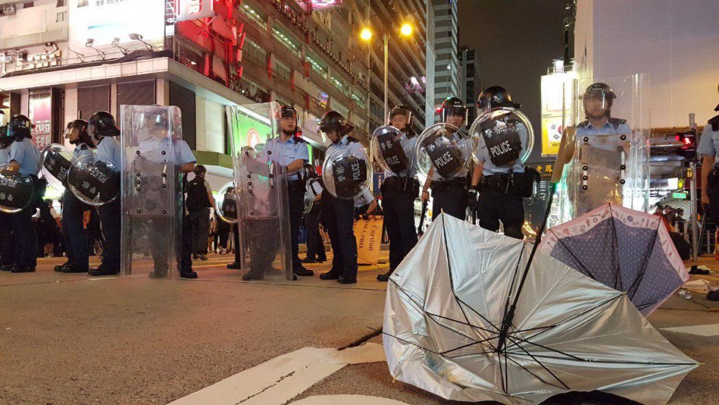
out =
[(697, 363), (626, 294), (541, 252), (499, 345), (530, 253), (521, 240), (437, 217), (390, 277), (383, 340), (392, 376), (460, 401), (534, 404), (600, 390), (666, 404)]

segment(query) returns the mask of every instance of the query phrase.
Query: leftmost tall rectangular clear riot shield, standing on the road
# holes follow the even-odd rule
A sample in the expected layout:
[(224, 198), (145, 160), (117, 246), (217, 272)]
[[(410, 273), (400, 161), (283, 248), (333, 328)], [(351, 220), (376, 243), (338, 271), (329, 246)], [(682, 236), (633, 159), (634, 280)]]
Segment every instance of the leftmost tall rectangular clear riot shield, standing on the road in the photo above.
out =
[(120, 107), (123, 276), (176, 278), (182, 247), (180, 109)]

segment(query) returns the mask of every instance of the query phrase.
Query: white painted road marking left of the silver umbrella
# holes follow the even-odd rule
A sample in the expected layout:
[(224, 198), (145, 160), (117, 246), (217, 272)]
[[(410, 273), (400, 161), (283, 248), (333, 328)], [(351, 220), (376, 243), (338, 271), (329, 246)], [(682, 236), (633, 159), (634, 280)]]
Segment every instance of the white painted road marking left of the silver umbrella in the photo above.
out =
[(283, 405), (348, 364), (385, 361), (382, 345), (346, 350), (304, 347), (191, 393), (170, 405)]

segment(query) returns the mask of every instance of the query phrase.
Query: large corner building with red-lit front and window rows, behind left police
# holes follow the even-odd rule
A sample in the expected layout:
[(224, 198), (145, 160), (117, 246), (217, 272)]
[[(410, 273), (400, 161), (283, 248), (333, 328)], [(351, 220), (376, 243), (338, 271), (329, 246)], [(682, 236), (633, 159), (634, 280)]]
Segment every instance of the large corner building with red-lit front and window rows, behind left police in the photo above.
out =
[[(405, 21), (408, 38), (395, 29)], [(316, 121), (329, 109), (366, 142), (385, 119), (382, 35), (358, 37), (368, 22), (388, 32), (388, 104), (410, 106), (421, 129), (426, 5), (416, 0), (0, 1), (0, 94), (6, 116), (42, 123), (40, 147), (62, 143), (66, 122), (99, 110), (179, 106), (198, 163), (229, 176), (230, 145), (267, 134), (234, 139), (226, 106), (293, 104), (315, 157), (327, 146)]]

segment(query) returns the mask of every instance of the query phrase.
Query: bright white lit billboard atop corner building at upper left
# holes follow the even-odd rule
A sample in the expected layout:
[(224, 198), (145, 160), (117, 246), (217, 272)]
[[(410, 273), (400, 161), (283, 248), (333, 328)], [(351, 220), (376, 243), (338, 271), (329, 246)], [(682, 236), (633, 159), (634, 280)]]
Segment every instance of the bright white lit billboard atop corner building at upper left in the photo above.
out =
[(107, 50), (115, 38), (119, 44), (135, 42), (130, 34), (151, 44), (165, 38), (164, 0), (70, 0), (68, 10), (69, 47), (86, 56), (96, 55), (88, 40)]

